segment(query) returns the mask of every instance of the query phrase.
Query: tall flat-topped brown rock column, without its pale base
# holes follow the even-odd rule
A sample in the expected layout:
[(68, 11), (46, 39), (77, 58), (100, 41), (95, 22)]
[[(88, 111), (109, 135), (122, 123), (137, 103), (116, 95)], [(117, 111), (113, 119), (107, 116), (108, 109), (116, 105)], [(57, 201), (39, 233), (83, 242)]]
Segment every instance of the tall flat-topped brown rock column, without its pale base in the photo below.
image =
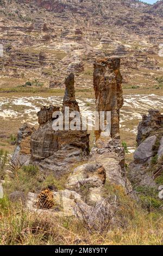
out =
[[(94, 63), (96, 111), (111, 112), (111, 137), (115, 137), (120, 132), (120, 108), (123, 105), (121, 83), (120, 58), (106, 58)], [(101, 130), (95, 131), (96, 140), (101, 132)]]

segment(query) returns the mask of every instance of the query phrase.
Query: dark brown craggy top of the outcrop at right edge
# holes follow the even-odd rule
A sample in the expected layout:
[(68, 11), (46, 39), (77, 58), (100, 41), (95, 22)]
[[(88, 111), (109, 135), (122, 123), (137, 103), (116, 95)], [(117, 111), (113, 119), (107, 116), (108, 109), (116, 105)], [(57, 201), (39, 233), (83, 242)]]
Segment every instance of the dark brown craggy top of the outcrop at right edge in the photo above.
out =
[(148, 115), (143, 115), (142, 121), (137, 128), (137, 144), (140, 145), (143, 139), (147, 138), (151, 132), (157, 131), (163, 124), (163, 115), (159, 110), (150, 109)]

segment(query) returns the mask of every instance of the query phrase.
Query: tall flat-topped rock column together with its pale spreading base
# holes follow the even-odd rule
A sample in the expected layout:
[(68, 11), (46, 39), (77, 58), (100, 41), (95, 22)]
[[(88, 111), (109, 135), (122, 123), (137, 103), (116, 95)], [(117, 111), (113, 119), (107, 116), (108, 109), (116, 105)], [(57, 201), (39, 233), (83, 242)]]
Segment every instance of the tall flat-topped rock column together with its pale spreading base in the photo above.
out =
[[(103, 198), (105, 181), (122, 187), (130, 187), (126, 179), (124, 149), (120, 142), (120, 108), (123, 105), (120, 59), (109, 58), (94, 64), (94, 89), (96, 110), (111, 112), (111, 134), (95, 131), (96, 144), (91, 149), (87, 164), (74, 169), (66, 187), (80, 193), (87, 189), (87, 203), (96, 203)], [(99, 175), (100, 173), (100, 175)]]

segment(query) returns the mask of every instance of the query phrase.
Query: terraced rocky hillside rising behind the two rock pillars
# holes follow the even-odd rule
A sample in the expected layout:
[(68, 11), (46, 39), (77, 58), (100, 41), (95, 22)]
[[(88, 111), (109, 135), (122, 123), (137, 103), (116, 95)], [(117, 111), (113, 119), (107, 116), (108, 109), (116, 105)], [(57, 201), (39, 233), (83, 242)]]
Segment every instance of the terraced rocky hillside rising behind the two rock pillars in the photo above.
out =
[(113, 55), (122, 58), (124, 86), (157, 87), (163, 65), (161, 6), (162, 1), (2, 0), (1, 88), (27, 81), (60, 88), (70, 71), (78, 87), (90, 88), (94, 60)]

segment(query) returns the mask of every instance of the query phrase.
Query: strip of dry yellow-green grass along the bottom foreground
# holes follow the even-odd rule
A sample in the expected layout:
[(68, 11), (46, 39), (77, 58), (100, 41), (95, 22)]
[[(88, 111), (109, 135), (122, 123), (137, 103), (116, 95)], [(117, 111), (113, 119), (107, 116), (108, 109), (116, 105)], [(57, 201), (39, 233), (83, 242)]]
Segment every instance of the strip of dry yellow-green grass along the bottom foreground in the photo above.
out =
[(162, 218), (152, 213), (129, 220), (127, 228), (91, 235), (74, 217), (38, 216), (7, 198), (0, 205), (1, 245), (163, 245)]

